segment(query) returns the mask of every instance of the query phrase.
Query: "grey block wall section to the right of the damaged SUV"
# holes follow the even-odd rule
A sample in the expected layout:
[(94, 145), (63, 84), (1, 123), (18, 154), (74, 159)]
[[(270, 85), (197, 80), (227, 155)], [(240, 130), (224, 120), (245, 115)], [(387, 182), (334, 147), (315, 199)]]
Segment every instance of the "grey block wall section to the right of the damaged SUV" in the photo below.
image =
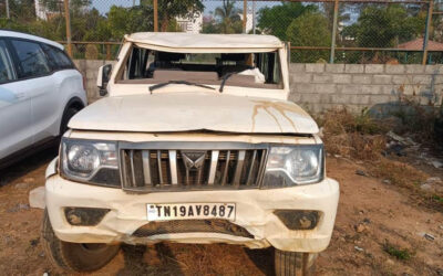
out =
[(385, 113), (401, 95), (426, 105), (443, 93), (442, 65), (290, 64), (290, 100), (311, 113), (368, 107)]

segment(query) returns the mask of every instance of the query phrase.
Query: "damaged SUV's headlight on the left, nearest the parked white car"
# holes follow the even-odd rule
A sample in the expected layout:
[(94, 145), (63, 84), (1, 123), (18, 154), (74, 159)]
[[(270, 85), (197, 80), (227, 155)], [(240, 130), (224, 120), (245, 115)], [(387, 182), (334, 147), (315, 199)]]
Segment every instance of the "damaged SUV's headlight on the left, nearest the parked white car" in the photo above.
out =
[(63, 177), (93, 184), (120, 185), (116, 144), (62, 139), (61, 173)]

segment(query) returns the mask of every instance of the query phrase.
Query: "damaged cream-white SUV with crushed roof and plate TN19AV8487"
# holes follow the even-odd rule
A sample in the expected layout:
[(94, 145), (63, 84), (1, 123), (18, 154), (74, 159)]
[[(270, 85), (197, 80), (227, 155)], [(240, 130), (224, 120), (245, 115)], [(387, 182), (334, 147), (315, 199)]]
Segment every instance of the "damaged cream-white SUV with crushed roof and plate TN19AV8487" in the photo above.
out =
[(317, 124), (287, 100), (285, 43), (134, 33), (110, 67), (107, 97), (72, 118), (47, 170), (48, 256), (93, 270), (119, 243), (229, 243), (275, 247), (278, 275), (311, 272), (339, 184)]

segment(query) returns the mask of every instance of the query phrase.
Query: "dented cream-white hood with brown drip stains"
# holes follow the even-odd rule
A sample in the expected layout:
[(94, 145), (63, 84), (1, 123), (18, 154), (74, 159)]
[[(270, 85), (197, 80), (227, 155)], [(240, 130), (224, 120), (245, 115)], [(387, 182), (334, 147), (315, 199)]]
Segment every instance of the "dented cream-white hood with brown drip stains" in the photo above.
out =
[(69, 127), (141, 132), (318, 132), (313, 119), (293, 103), (214, 93), (106, 97), (76, 114)]

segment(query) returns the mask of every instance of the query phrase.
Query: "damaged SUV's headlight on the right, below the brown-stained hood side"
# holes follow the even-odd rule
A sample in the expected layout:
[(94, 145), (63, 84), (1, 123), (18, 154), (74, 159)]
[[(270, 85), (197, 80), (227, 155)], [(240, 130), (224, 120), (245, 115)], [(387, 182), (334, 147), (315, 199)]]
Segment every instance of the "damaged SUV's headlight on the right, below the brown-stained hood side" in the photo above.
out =
[(322, 145), (271, 147), (265, 172), (265, 188), (290, 187), (321, 181)]

